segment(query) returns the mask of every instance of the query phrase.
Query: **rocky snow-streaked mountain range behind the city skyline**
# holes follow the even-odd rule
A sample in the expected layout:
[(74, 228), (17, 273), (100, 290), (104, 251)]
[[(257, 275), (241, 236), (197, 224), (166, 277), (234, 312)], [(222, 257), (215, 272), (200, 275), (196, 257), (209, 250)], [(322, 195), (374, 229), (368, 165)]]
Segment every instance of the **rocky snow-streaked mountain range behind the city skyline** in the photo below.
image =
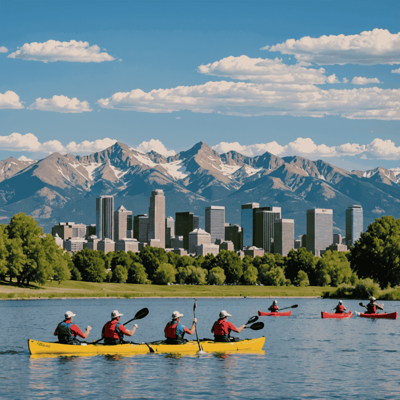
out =
[(346, 171), (323, 160), (269, 152), (248, 157), (218, 154), (199, 142), (168, 158), (116, 142), (88, 156), (52, 153), (38, 161), (0, 162), (0, 219), (17, 212), (36, 219), (44, 232), (58, 222), (96, 223), (96, 197), (115, 196), (133, 214), (147, 214), (154, 189), (163, 189), (166, 216), (193, 211), (204, 228), (204, 207), (225, 206), (225, 221), (240, 224), (241, 204), (282, 207), (293, 218), (295, 237), (306, 232), (308, 208), (332, 208), (334, 233), (345, 235), (345, 210), (364, 209), (364, 232), (382, 215), (400, 218), (400, 171), (382, 167)]

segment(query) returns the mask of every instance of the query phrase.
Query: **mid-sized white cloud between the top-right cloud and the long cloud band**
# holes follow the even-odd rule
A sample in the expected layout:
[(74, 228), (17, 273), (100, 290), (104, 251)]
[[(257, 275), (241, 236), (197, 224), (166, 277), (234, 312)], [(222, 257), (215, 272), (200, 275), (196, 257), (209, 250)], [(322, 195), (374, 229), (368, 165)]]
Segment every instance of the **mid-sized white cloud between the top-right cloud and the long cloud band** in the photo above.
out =
[(250, 58), (248, 56), (226, 57), (212, 64), (199, 65), (198, 72), (207, 75), (225, 76), (256, 83), (276, 82), (282, 84), (339, 83), (335, 74), (327, 77), (324, 68), (306, 68), (301, 64), (286, 65), (282, 58)]

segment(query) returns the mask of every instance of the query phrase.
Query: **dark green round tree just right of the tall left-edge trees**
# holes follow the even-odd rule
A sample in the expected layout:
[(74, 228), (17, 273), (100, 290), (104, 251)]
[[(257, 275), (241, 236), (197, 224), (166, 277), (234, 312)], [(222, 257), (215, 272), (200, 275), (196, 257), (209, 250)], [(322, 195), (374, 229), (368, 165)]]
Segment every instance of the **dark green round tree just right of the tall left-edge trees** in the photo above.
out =
[(72, 262), (84, 282), (103, 282), (106, 279), (107, 272), (101, 253), (101, 251), (84, 248), (72, 256)]

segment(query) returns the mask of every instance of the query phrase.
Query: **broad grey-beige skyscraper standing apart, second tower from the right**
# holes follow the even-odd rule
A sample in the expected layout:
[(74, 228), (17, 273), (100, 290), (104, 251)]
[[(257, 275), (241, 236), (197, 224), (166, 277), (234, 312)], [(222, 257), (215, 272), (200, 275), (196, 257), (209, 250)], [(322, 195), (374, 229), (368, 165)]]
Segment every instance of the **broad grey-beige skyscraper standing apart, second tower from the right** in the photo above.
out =
[(333, 210), (312, 208), (307, 210), (306, 250), (320, 256), (333, 240)]

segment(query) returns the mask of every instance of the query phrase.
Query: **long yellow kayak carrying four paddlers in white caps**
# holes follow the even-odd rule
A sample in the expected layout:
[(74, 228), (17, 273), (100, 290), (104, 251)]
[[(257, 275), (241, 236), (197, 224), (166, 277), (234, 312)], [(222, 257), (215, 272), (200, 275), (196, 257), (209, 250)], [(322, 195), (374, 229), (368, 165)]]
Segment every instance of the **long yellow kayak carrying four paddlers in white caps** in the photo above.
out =
[[(200, 340), (200, 344), (208, 353), (253, 352), (264, 346), (265, 336), (256, 339), (244, 339), (239, 342), (216, 343), (212, 340)], [(29, 352), (32, 356), (95, 356), (97, 354), (128, 355), (150, 353), (149, 346), (155, 353), (196, 354), (199, 351), (198, 343), (190, 340), (185, 344), (149, 343), (147, 344), (118, 344), (105, 346), (103, 344), (86, 344), (75, 346), (52, 342), (40, 342), (28, 339)]]

